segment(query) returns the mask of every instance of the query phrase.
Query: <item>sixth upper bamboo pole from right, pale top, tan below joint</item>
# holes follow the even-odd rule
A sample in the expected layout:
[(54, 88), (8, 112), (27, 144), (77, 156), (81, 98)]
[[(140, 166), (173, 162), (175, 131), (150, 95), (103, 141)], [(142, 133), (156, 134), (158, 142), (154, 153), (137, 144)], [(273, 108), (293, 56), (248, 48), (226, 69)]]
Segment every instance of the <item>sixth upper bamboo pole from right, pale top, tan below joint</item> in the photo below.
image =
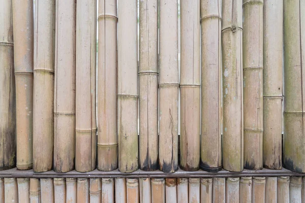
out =
[(200, 160), (200, 1), (182, 0), (180, 8), (180, 167), (197, 171)]

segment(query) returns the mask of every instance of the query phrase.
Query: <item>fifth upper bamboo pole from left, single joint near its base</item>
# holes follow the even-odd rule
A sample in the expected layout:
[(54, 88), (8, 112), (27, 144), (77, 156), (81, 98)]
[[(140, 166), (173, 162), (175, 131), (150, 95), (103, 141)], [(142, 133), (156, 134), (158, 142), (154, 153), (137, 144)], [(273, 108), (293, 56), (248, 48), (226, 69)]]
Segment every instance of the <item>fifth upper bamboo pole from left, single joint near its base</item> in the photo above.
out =
[(75, 170), (92, 171), (97, 158), (96, 1), (76, 5), (76, 153)]

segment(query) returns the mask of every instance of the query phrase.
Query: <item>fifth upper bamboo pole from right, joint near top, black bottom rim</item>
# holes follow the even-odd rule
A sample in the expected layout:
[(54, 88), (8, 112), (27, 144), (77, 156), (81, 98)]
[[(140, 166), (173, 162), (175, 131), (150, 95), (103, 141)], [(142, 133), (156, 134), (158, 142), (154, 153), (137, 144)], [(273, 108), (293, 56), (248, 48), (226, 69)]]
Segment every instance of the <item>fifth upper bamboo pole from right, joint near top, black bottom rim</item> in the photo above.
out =
[(222, 168), (221, 11), (221, 0), (201, 1), (200, 168), (209, 172)]

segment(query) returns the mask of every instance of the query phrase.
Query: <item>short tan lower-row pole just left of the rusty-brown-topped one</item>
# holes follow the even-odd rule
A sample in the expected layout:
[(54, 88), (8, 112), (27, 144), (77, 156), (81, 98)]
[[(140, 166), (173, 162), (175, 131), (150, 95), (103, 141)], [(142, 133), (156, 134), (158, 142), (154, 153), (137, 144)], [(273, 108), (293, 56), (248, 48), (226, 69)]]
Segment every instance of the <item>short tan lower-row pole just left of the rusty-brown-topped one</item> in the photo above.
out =
[(151, 202), (165, 203), (165, 180), (164, 178), (151, 179)]

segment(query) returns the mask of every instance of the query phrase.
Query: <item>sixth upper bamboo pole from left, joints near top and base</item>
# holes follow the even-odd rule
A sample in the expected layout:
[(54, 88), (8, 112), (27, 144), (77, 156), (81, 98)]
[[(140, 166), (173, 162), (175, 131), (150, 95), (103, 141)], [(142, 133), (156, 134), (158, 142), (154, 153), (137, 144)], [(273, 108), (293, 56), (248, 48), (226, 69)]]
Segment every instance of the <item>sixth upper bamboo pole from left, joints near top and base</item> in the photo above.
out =
[(99, 1), (98, 170), (117, 168), (117, 7), (116, 0)]

